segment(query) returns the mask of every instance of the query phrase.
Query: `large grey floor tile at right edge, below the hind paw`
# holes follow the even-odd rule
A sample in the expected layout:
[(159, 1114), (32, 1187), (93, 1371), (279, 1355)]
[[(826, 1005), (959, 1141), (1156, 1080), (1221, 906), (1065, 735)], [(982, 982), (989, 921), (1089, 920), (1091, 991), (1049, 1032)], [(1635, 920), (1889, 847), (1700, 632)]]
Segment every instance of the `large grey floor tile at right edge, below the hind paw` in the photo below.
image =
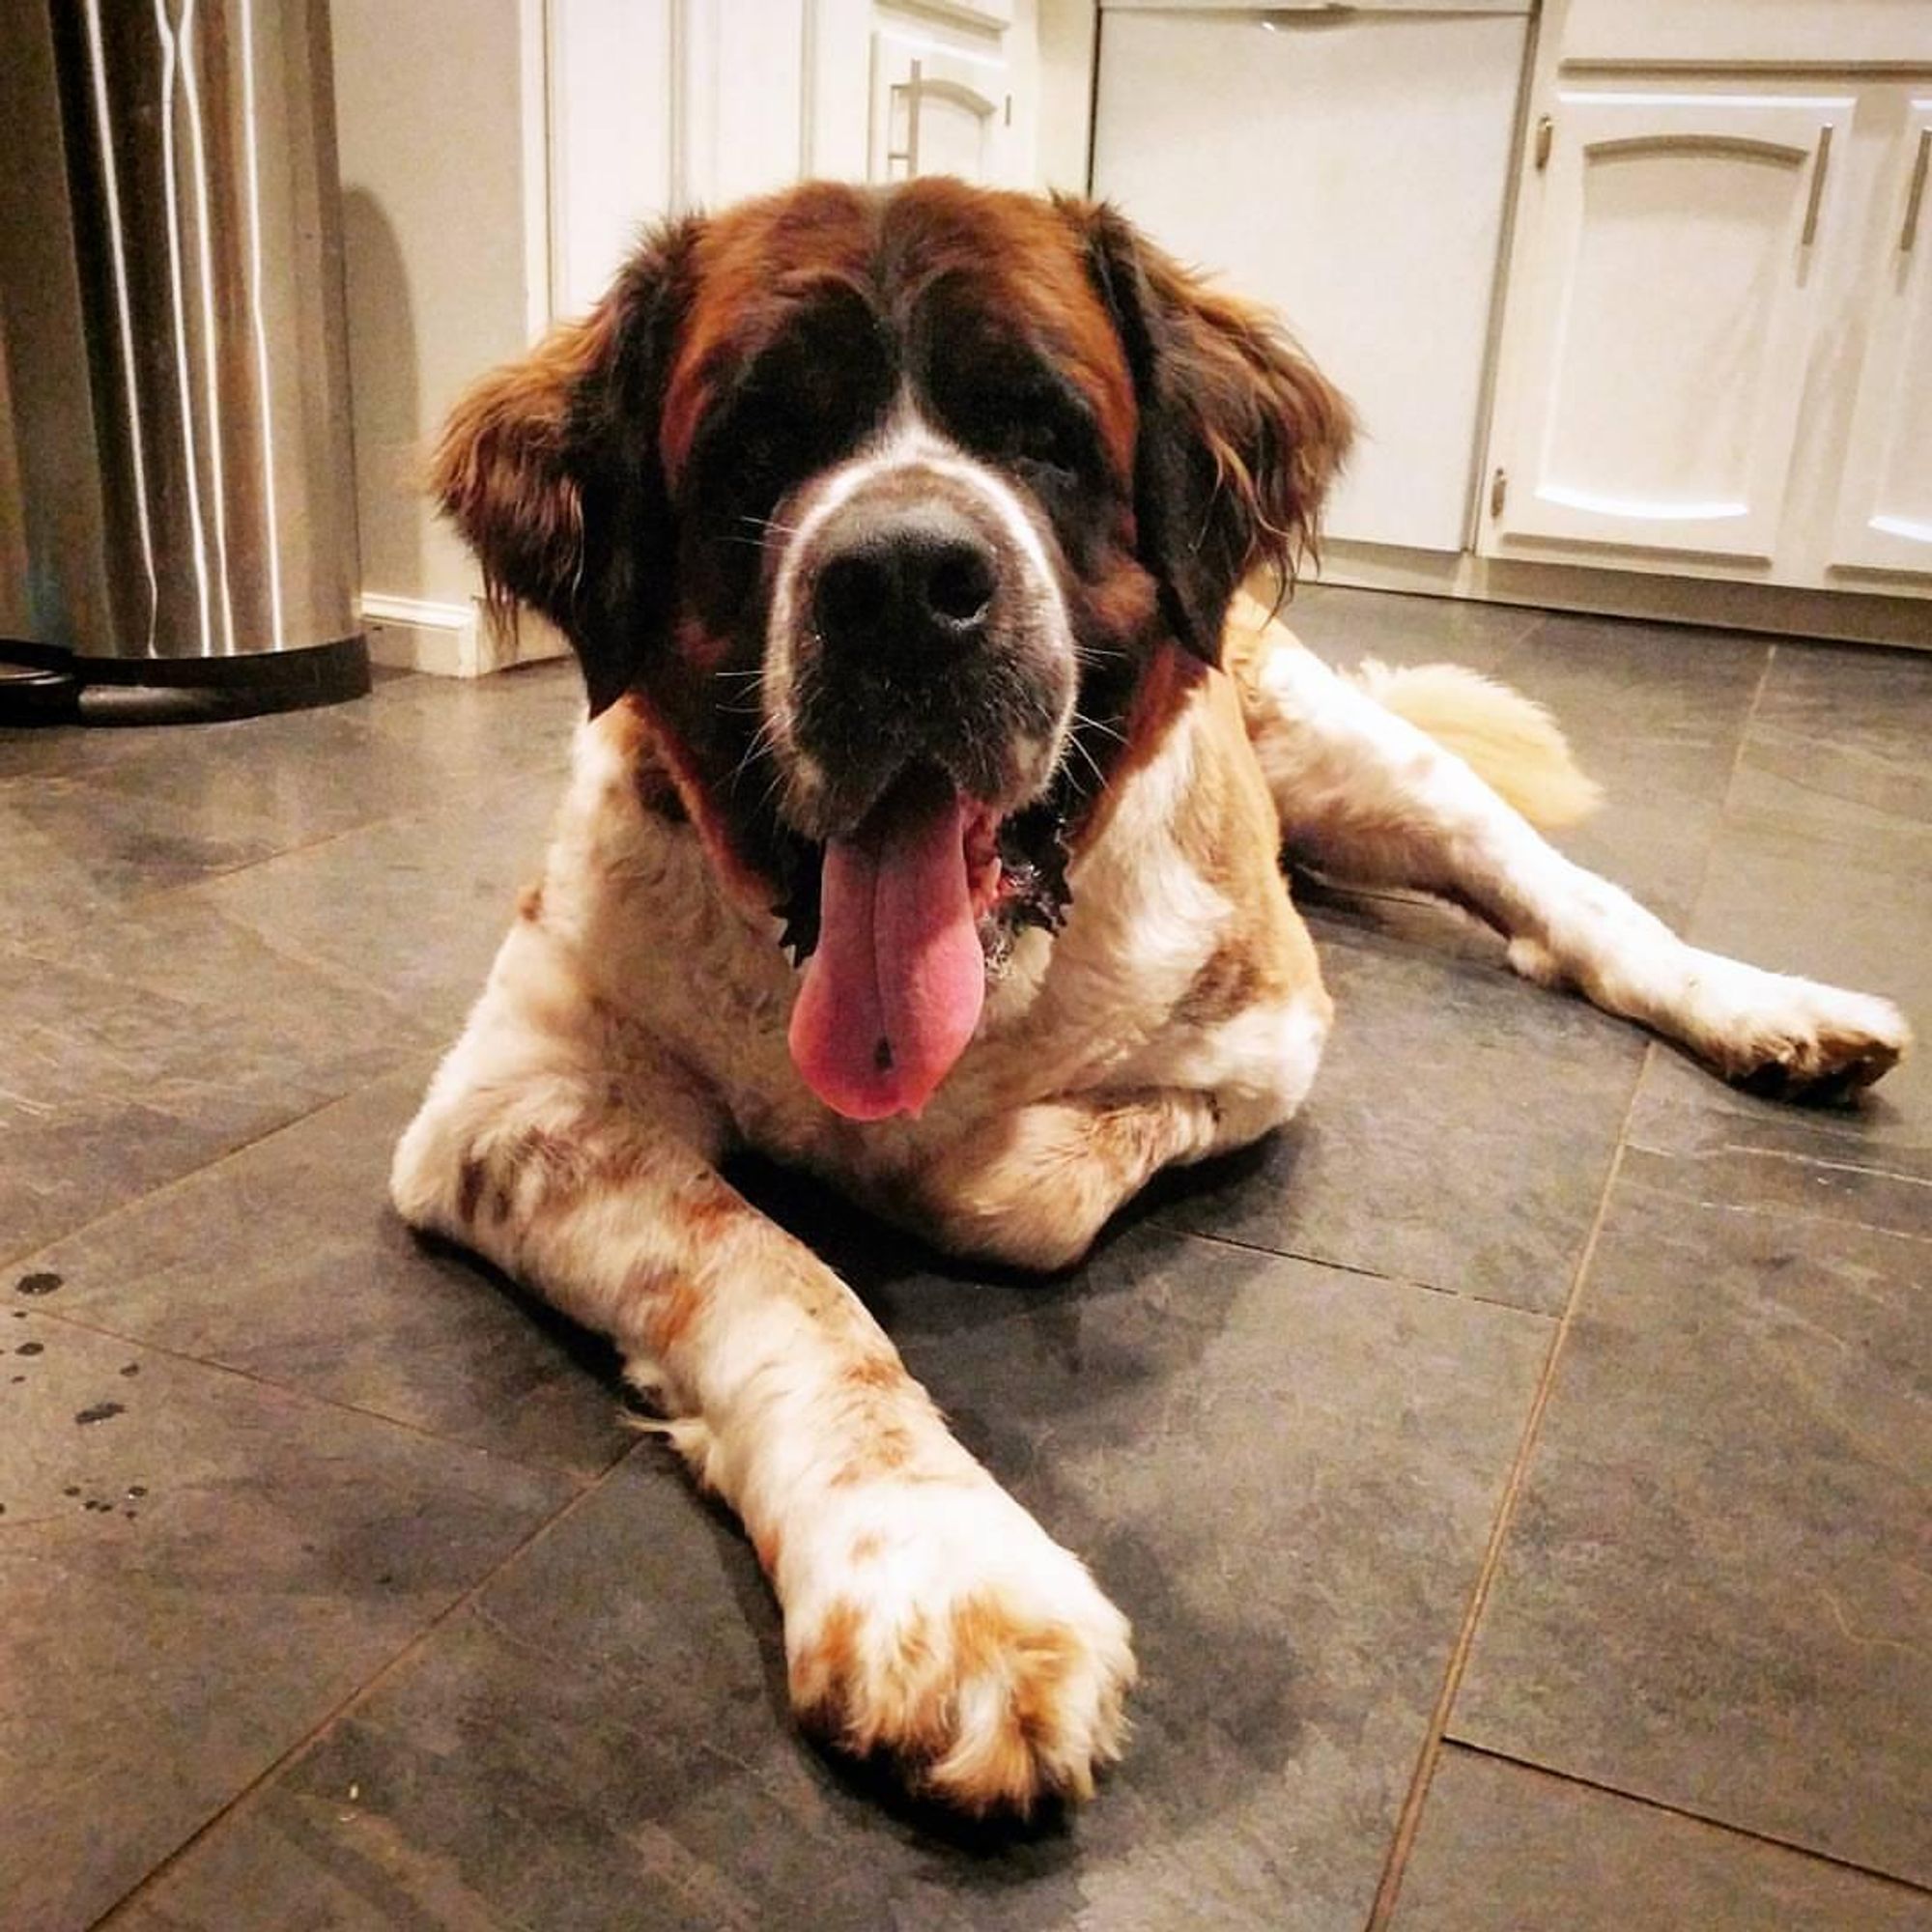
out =
[(1451, 1735), (1926, 1882), (1932, 1217), (1859, 1206), (1627, 1153)]

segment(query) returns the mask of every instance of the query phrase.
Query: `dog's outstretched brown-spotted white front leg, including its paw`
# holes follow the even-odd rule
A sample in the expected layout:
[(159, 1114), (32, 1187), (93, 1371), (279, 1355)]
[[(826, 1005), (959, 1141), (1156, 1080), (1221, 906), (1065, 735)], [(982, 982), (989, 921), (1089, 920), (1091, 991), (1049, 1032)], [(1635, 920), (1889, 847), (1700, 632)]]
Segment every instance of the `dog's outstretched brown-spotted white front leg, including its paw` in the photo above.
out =
[(972, 1812), (1084, 1797), (1128, 1629), (947, 1432), (852, 1291), (711, 1165), (717, 1121), (636, 1043), (531, 1037), (493, 991), (396, 1153), (404, 1217), (603, 1329), (784, 1611), (792, 1702)]

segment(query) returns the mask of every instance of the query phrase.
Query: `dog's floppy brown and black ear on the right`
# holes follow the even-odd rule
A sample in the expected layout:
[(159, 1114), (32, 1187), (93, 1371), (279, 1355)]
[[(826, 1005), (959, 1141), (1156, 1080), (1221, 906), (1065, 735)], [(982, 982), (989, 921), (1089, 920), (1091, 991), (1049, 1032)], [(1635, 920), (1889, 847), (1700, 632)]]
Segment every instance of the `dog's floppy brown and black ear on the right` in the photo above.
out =
[(1349, 404), (1265, 311), (1208, 288), (1105, 205), (1061, 201), (1140, 404), (1134, 522), (1173, 634), (1219, 663), (1252, 570), (1291, 583), (1354, 435)]

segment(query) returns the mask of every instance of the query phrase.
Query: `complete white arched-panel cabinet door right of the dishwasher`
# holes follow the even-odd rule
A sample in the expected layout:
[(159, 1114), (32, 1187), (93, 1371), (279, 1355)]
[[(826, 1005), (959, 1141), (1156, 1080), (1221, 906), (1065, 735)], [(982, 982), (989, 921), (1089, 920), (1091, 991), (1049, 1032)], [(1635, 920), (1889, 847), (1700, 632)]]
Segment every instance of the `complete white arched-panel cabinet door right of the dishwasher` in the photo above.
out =
[(1522, 207), (1492, 549), (1770, 560), (1851, 108), (1772, 87), (1557, 95)]

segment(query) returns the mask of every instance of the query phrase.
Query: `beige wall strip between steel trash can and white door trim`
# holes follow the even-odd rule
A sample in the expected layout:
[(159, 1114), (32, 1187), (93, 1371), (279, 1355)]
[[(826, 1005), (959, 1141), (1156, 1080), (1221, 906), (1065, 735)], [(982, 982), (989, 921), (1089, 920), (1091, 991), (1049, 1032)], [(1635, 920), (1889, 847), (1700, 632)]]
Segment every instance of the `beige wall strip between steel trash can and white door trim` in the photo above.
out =
[(475, 566), (415, 475), (464, 384), (529, 338), (524, 0), (332, 19), (363, 589), (468, 607)]

